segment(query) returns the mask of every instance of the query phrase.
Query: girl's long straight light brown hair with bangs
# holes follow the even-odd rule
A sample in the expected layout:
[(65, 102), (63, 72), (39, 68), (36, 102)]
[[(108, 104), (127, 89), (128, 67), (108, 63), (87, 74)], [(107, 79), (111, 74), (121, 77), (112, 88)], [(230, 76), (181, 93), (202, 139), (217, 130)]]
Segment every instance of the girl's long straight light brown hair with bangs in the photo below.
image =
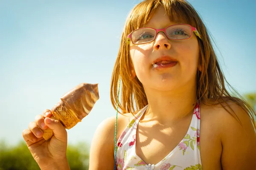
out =
[[(119, 52), (113, 68), (111, 79), (111, 102), (113, 107), (116, 109), (118, 102), (119, 110), (122, 113), (134, 113), (134, 111), (138, 111), (148, 104), (143, 85), (137, 77), (132, 77), (133, 64), (129, 54), (127, 36), (131, 31), (143, 27), (150, 20), (158, 6), (165, 8), (171, 21), (186, 22), (197, 28), (201, 34), (202, 40), (197, 37), (200, 48), (199, 64), (201, 65), (201, 71), (198, 70), (197, 73), (198, 102), (209, 104), (214, 101), (224, 107), (223, 102), (227, 104), (227, 101), (231, 100), (246, 111), (256, 128), (253, 118), (256, 114), (253, 109), (243, 99), (231, 96), (225, 88), (224, 83), (227, 80), (221, 71), (207, 28), (195, 8), (185, 0), (144, 0), (132, 9), (125, 23)], [(117, 96), (119, 76), (121, 79), (121, 102), (119, 102)], [(230, 86), (228, 83), (227, 85)], [(231, 86), (230, 88), (233, 89)], [(240, 96), (235, 89), (233, 90)]]

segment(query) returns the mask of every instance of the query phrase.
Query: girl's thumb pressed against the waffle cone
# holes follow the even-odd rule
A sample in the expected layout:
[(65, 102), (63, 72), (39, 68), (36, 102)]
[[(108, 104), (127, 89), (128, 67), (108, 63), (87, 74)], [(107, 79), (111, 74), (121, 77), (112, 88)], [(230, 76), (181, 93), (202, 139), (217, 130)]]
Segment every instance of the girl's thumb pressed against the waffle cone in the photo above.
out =
[(46, 117), (44, 119), (45, 125), (47, 125), (50, 129), (52, 129), (54, 136), (56, 139), (61, 140), (62, 142), (67, 141), (67, 130), (65, 127), (61, 124), (60, 121), (51, 119), (49, 117)]

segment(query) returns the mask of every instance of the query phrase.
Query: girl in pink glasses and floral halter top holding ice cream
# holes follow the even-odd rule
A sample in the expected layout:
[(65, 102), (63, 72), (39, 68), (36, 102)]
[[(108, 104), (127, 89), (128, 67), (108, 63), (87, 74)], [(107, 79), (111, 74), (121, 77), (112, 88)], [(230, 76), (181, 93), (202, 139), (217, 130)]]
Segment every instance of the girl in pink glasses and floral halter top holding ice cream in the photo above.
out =
[[(122, 114), (116, 129), (116, 116), (97, 128), (90, 170), (255, 169), (255, 113), (230, 96), (224, 80), (188, 2), (139, 3), (126, 21), (111, 81), (111, 101)], [(67, 132), (50, 115), (38, 115), (23, 137), (42, 170), (66, 170)], [(55, 135), (45, 141), (37, 132), (47, 126)]]

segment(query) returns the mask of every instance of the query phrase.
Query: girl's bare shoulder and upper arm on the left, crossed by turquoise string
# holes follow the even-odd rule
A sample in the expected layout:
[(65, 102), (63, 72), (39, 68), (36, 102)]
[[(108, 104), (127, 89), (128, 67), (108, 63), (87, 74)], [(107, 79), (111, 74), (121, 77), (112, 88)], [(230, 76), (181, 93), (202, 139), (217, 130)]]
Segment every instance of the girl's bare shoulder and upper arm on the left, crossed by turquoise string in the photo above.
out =
[[(128, 125), (132, 114), (118, 114), (116, 139)], [(90, 170), (113, 169), (116, 116), (103, 120), (97, 127), (90, 146)]]

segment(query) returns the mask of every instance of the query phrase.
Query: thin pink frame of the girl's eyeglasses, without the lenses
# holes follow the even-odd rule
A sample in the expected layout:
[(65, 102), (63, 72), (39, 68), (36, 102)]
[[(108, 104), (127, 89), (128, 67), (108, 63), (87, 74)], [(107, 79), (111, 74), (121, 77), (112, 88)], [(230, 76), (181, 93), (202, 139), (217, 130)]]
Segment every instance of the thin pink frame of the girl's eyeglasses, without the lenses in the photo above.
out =
[[(185, 38), (185, 39), (181, 39), (181, 40), (187, 40), (187, 39), (191, 38), (193, 32), (195, 32), (195, 34), (202, 40), (201, 35), (199, 34), (199, 32), (197, 31), (197, 29), (196, 29), (195, 27), (192, 27), (192, 26), (190, 26), (189, 24), (175, 24), (175, 25), (171, 25), (171, 26), (177, 26), (177, 25), (186, 25), (186, 26), (189, 26), (189, 27), (191, 28), (191, 36), (188, 37), (188, 38)], [(158, 34), (159, 32), (163, 32), (169, 40), (177, 40), (177, 39), (170, 39), (170, 38), (167, 36), (166, 29), (169, 28), (169, 27), (170, 27), (170, 26), (168, 26), (168, 27), (166, 27), (166, 28), (162, 28), (162, 29), (155, 29), (155, 28), (151, 28), (151, 27), (145, 27), (145, 28), (154, 29), (154, 30), (156, 31), (156, 36), (154, 37), (153, 40), (151, 40), (151, 41), (149, 41), (149, 42), (154, 41), (154, 40), (156, 39), (157, 34)], [(144, 29), (144, 28), (139, 28), (139, 29)], [(137, 30), (139, 30), (139, 29), (136, 29), (136, 30), (134, 30), (134, 31), (137, 31)], [(132, 32), (127, 36), (127, 43), (128, 43), (128, 45), (130, 44), (130, 42), (132, 42), (132, 40), (131, 40), (131, 34), (132, 34), (134, 31), (132, 31)], [(136, 44), (136, 43), (134, 43), (134, 42), (132, 42), (132, 43), (133, 43), (133, 44)], [(145, 44), (145, 43), (148, 43), (148, 42), (139, 43), (139, 44)], [(138, 45), (138, 44), (136, 44), (136, 45)]]

